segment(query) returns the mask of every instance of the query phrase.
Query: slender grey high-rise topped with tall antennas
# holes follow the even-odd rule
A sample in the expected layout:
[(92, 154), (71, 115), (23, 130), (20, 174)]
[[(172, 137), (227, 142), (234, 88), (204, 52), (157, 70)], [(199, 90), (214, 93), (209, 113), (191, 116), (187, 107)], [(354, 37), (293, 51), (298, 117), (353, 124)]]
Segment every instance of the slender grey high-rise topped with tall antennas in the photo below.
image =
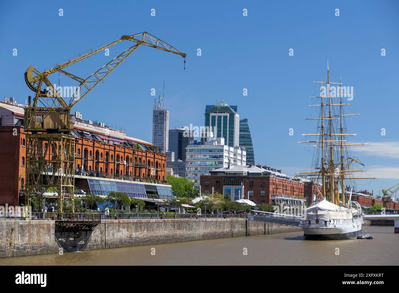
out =
[(162, 153), (168, 151), (169, 144), (169, 111), (161, 105), (161, 96), (158, 97), (158, 103), (154, 101), (152, 110), (152, 144), (159, 146)]

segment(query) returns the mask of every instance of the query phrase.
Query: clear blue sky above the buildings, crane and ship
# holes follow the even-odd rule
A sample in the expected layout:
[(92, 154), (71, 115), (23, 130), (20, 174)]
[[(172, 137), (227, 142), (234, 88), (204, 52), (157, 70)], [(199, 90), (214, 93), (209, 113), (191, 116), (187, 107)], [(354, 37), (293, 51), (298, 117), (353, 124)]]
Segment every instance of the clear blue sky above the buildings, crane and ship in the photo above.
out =
[[(398, 12), (398, 1), (2, 1), (1, 94), (24, 103), (33, 94), (24, 81), (29, 65), (48, 69), (121, 35), (148, 31), (187, 54), (186, 70), (182, 57), (140, 47), (73, 110), (151, 141), (150, 92), (161, 93), (165, 79), (170, 128), (203, 125), (205, 104), (223, 99), (248, 118), (256, 162), (292, 175), (312, 161), (311, 149), (297, 142), (316, 127), (305, 120), (316, 114), (309, 96), (318, 92), (313, 81), (326, 79), (329, 59), (333, 81), (342, 76), (356, 94), (348, 112), (361, 115), (348, 117), (348, 132), (358, 134), (355, 142), (369, 142), (352, 154), (381, 178), (357, 186), (378, 194), (399, 183)], [(69, 71), (87, 77), (129, 45)], [(57, 83), (58, 75), (50, 80)], [(61, 78), (61, 85), (72, 84)]]

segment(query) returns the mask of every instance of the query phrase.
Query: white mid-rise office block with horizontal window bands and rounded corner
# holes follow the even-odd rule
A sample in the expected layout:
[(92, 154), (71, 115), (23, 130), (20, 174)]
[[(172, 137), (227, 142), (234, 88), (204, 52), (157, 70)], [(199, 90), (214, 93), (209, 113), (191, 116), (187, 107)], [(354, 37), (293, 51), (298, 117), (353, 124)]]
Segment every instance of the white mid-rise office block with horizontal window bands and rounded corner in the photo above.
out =
[(246, 152), (239, 147), (225, 145), (224, 138), (213, 138), (212, 132), (201, 134), (201, 142), (186, 148), (186, 178), (199, 187), (200, 176), (232, 165), (245, 165)]

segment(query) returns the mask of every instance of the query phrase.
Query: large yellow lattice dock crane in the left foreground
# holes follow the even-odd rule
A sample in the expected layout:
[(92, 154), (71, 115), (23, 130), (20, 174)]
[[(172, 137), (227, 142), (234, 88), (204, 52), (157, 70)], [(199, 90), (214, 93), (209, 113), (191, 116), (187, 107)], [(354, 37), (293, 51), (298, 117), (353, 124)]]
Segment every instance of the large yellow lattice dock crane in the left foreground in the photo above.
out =
[[(65, 71), (66, 67), (124, 40), (132, 41), (134, 45), (89, 77), (81, 78)], [(28, 207), (28, 212), (31, 195), (38, 193), (40, 187), (52, 187), (57, 191), (58, 212), (61, 218), (63, 217), (64, 198), (69, 199), (69, 209), (72, 213), (74, 212), (75, 138), (69, 132), (73, 130), (75, 116), (71, 115), (71, 108), (141, 45), (180, 55), (184, 57), (184, 63), (186, 62), (185, 53), (145, 31), (134, 35), (122, 35), (120, 39), (99, 49), (69, 59), (43, 72), (35, 69), (32, 65), (28, 67), (25, 72), (25, 81), (28, 87), (36, 92), (33, 101), (29, 100), (28, 106), (25, 108), (24, 121), (24, 130), (30, 132), (27, 135), (28, 147), (26, 148), (25, 205)], [(79, 83), (69, 97), (69, 101), (57, 92), (48, 79), (49, 75), (56, 72)]]

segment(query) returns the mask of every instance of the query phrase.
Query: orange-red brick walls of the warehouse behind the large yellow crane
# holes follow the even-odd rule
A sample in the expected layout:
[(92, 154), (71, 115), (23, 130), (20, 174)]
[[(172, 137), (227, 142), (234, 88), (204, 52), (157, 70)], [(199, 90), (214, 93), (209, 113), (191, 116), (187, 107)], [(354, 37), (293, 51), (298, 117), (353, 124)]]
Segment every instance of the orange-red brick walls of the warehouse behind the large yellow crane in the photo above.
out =
[[(26, 134), (23, 126), (0, 126), (0, 205), (19, 205), (19, 193), (26, 182)], [(83, 165), (86, 171), (102, 171), (108, 178), (119, 174), (129, 175), (131, 179), (166, 179), (166, 156), (162, 153), (88, 138), (76, 138), (75, 149), (75, 169)]]

